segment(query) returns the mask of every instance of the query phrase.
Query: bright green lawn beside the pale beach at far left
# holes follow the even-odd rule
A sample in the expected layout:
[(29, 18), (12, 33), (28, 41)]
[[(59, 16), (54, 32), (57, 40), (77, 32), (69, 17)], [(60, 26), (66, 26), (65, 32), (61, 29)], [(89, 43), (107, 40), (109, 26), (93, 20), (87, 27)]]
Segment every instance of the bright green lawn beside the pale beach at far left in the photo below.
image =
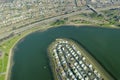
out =
[[(3, 58), (0, 59), (0, 72), (6, 72), (6, 67), (8, 63), (8, 56), (10, 49), (13, 47), (14, 43), (20, 38), (20, 36), (15, 36), (7, 41), (5, 41), (3, 44), (0, 45), (0, 50), (2, 50)], [(1, 80), (1, 79), (0, 79)]]

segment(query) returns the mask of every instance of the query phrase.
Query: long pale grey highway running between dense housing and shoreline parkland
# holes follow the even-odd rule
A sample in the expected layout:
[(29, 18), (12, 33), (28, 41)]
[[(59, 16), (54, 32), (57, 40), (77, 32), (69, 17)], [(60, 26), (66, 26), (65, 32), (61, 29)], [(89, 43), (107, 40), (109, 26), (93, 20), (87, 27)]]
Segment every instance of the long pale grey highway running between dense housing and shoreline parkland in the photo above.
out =
[[(105, 8), (98, 8), (97, 11), (109, 10), (109, 9), (112, 9), (112, 8), (120, 8), (120, 6), (109, 6), (109, 7), (105, 7)], [(0, 34), (0, 40), (7, 37), (8, 35), (10, 35), (13, 32), (14, 33), (20, 33), (20, 32), (26, 31), (28, 29), (31, 29), (31, 28), (35, 27), (36, 25), (41, 25), (41, 24), (44, 24), (44, 23), (46, 24), (46, 23), (55, 21), (55, 20), (60, 19), (60, 18), (70, 17), (70, 16), (74, 16), (74, 15), (77, 15), (77, 14), (80, 14), (80, 13), (91, 13), (91, 12), (92, 12), (91, 10), (81, 10), (81, 11), (72, 12), (72, 13), (68, 13), (68, 14), (64, 14), (64, 15), (60, 15), (60, 16), (56, 16), (56, 17), (52, 17), (52, 18), (47, 18), (45, 20), (41, 20), (39, 22), (29, 24), (25, 27), (22, 27), (22, 28), (13, 30), (13, 31), (4, 32), (4, 33)]]

